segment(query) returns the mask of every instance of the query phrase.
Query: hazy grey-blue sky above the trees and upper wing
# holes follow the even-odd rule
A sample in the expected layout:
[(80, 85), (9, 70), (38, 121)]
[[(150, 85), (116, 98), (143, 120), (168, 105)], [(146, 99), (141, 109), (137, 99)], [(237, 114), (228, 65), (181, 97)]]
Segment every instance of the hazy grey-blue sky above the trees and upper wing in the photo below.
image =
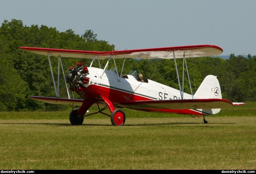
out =
[[(210, 44), (256, 55), (256, 0), (1, 0), (0, 22), (86, 30), (116, 50)], [(21, 45), (23, 46), (23, 45)]]

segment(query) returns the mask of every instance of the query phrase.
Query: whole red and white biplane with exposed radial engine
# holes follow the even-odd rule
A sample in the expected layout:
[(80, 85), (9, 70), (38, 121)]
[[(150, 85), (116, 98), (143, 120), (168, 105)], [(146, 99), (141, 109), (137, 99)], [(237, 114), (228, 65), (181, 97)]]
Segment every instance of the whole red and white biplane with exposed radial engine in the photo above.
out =
[[(79, 108), (73, 109), (70, 113), (69, 119), (72, 125), (81, 125), (85, 116), (103, 113), (106, 108), (109, 108), (111, 115), (103, 114), (111, 118), (111, 123), (114, 126), (122, 126), (126, 121), (126, 115), (121, 108), (155, 113), (203, 115), (204, 123), (207, 123), (205, 116), (217, 114), (221, 108), (245, 104), (232, 103), (223, 99), (218, 79), (213, 75), (205, 77), (194, 95), (192, 89), (191, 94), (184, 92), (184, 83), (181, 86), (176, 58), (183, 58), (182, 79), (184, 82), (186, 58), (220, 55), (223, 50), (215, 45), (189, 45), (108, 52), (34, 47), (20, 47), (20, 49), (48, 56), (56, 97), (31, 96), (31, 98), (47, 103), (79, 106)], [(61, 64), (61, 57), (91, 59), (91, 64), (88, 67), (83, 66), (82, 63), (77, 63), (74, 67), (70, 67), (67, 77), (65, 77), (68, 98), (59, 98), (58, 96), (59, 89), (56, 89), (50, 56), (59, 58), (59, 65)], [(174, 59), (179, 90), (150, 79), (139, 81), (136, 71), (130, 71), (129, 74), (123, 75), (122, 71), (126, 58)], [(107, 59), (106, 65), (101, 68), (100, 61), (105, 59)], [(117, 71), (116, 59), (123, 59), (121, 72)], [(111, 60), (114, 61), (115, 67), (108, 69), (108, 64)], [(98, 61), (97, 67), (99, 68), (92, 66), (94, 61)], [(62, 73), (65, 76), (63, 68)], [(70, 86), (68, 87), (68, 85)], [(70, 98), (70, 91), (77, 93), (82, 99)], [(86, 114), (91, 106), (98, 107), (99, 111)]]

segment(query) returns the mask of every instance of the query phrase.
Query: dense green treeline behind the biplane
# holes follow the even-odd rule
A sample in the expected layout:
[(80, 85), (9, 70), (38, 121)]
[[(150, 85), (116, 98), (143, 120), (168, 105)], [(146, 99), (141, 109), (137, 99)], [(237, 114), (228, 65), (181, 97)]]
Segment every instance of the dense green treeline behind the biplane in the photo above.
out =
[[(107, 41), (98, 40), (97, 34), (86, 30), (77, 35), (69, 29), (59, 32), (47, 26), (24, 26), (22, 21), (5, 20), (0, 27), (0, 111), (51, 111), (69, 109), (67, 105), (51, 105), (32, 100), (29, 96), (55, 97), (54, 86), (46, 56), (20, 50), (19, 47), (60, 48), (72, 50), (111, 51), (115, 46)], [(57, 59), (51, 59), (54, 74), (57, 77)], [(232, 102), (256, 101), (256, 56), (230, 55), (225, 60), (220, 57), (186, 59), (193, 93), (204, 77), (212, 74), (218, 77), (222, 97)], [(77, 62), (90, 65), (90, 60), (62, 58), (65, 71)], [(179, 73), (182, 74), (181, 59), (177, 60)], [(104, 64), (104, 62), (103, 62)], [(102, 64), (102, 66), (103, 66)], [(118, 67), (122, 60), (116, 60)], [(113, 64), (109, 64), (109, 67)], [(174, 87), (178, 79), (173, 60), (126, 60), (122, 74), (136, 70), (143, 77)], [(120, 72), (119, 72), (120, 73)], [(186, 73), (186, 72), (185, 72)], [(180, 79), (182, 81), (182, 79)], [(63, 87), (62, 87), (63, 86)], [(67, 97), (64, 79), (60, 79), (59, 97)], [(184, 79), (184, 91), (191, 93), (188, 78)], [(78, 97), (75, 95), (75, 97)]]

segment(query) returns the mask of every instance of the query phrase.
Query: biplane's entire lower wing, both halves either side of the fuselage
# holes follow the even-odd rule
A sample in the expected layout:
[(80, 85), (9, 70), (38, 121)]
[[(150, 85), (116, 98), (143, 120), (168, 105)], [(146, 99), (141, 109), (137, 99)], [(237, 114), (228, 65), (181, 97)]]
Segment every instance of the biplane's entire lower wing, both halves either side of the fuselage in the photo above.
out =
[[(44, 101), (51, 104), (60, 105), (75, 105), (81, 106), (83, 99), (72, 98), (56, 98), (56, 97), (38, 97), (31, 96), (34, 100)], [(99, 102), (100, 104), (105, 104)], [(245, 103), (232, 103), (226, 99), (209, 98), (209, 99), (183, 99), (183, 100), (143, 100), (143, 101), (128, 101), (124, 103), (114, 103), (115, 106), (129, 109), (173, 109), (173, 110), (197, 110), (197, 109), (214, 109), (228, 108), (236, 105), (244, 105)], [(97, 105), (95, 105), (97, 106)]]

